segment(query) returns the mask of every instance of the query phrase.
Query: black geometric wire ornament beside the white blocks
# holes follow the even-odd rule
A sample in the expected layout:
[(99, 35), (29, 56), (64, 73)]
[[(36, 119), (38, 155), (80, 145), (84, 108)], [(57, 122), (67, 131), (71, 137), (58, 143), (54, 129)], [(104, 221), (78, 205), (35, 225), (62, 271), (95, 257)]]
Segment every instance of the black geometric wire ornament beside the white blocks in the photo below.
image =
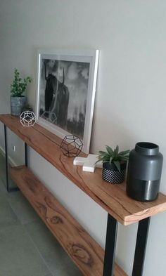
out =
[(76, 157), (82, 151), (83, 143), (79, 137), (74, 135), (65, 136), (60, 144), (63, 155), (68, 157)]

